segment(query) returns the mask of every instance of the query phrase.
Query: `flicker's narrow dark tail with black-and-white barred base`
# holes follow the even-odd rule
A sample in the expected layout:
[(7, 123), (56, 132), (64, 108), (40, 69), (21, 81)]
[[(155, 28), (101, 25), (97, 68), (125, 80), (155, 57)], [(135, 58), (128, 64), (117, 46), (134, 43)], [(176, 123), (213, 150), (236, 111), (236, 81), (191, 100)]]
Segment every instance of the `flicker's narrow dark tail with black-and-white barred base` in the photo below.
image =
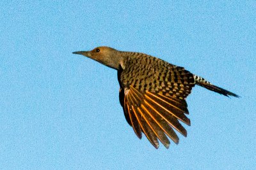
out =
[(232, 92), (229, 92), (228, 90), (222, 89), (218, 86), (212, 85), (209, 81), (204, 80), (204, 78), (200, 76), (194, 75), (195, 83), (196, 85), (200, 85), (208, 90), (212, 90), (214, 92), (217, 92), (219, 94), (223, 94), (224, 96), (234, 96), (234, 97), (240, 97)]

